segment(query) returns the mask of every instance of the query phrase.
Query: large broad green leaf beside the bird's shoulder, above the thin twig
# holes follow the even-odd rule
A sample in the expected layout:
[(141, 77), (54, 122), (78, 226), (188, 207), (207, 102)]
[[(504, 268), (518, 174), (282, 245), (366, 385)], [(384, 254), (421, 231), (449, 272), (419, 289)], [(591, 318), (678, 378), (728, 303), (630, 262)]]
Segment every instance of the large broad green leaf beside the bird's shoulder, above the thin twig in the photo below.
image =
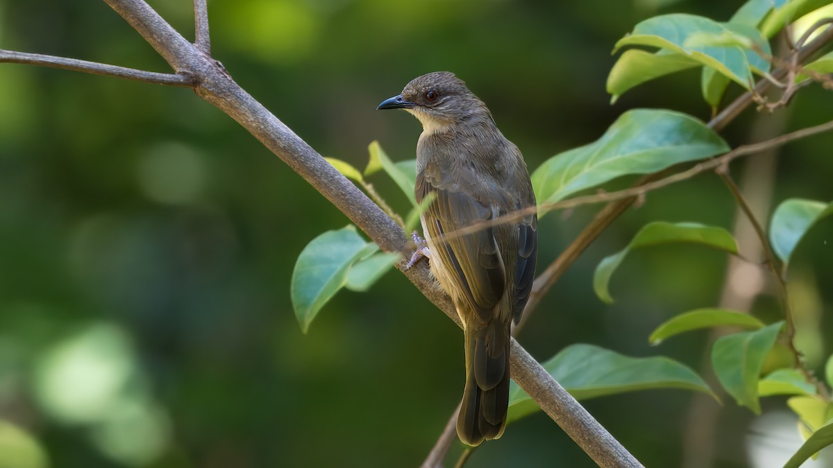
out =
[(623, 113), (596, 142), (551, 157), (532, 173), (539, 203), (628, 174), (661, 171), (729, 151), (726, 142), (694, 117), (654, 109)]

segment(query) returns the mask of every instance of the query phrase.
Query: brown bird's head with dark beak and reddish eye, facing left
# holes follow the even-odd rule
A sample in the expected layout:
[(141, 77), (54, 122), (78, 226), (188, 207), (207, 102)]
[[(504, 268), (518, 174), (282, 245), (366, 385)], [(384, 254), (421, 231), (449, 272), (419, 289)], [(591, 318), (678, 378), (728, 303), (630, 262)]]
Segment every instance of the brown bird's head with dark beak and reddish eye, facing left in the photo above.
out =
[(402, 94), (386, 99), (377, 109), (405, 109), (422, 122), (428, 133), (441, 132), (473, 117), (491, 119), (486, 105), (451, 72), (416, 77)]

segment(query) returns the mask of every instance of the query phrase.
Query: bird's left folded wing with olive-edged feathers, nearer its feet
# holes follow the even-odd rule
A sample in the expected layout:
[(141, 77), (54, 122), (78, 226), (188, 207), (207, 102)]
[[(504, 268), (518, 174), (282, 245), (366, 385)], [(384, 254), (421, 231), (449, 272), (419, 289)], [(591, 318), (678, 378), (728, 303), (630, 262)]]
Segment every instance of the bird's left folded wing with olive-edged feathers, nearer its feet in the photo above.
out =
[(447, 279), (456, 283), (456, 291), (462, 292), (478, 321), (491, 321), (506, 287), (494, 228), (484, 227), (461, 236), (451, 233), (488, 221), (492, 209), (462, 191), (456, 183), (448, 182), (447, 177), (426, 177), (420, 172), (416, 177), (416, 197), (421, 200), (429, 193), (434, 200), (422, 217), (434, 244), (431, 261), (442, 262)]

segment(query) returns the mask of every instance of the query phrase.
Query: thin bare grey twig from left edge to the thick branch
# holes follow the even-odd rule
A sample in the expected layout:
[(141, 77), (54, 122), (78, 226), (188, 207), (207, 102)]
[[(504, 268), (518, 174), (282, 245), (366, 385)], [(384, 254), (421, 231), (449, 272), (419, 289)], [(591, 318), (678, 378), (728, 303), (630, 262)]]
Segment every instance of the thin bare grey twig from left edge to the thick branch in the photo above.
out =
[(14, 52), (0, 49), (0, 62), (39, 65), (41, 67), (62, 68), (73, 72), (91, 73), (105, 77), (127, 78), (137, 82), (148, 82), (166, 86), (194, 87), (197, 80), (185, 73), (157, 73), (137, 70), (135, 68), (117, 67), (106, 63), (88, 62), (77, 58), (55, 57), (39, 53)]

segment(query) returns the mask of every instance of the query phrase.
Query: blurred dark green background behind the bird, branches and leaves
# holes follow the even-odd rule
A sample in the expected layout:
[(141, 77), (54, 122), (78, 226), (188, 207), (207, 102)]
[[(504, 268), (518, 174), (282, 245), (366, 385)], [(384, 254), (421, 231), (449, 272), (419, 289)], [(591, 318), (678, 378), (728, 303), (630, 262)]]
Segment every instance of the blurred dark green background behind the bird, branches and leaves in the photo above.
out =
[[(151, 3), (192, 37), (191, 2)], [(596, 139), (629, 108), (707, 120), (696, 71), (650, 82), (611, 106), (611, 48), (646, 17), (723, 21), (740, 5), (209, 2), (214, 57), (322, 155), (363, 167), (377, 139), (395, 160), (414, 157), (418, 122), (376, 106), (412, 77), (451, 70), (488, 104), (531, 169)], [(167, 72), (104, 2), (0, 0), (0, 47)], [(785, 113), (785, 122), (773, 121), (776, 132), (825, 122), (831, 99), (810, 87), (789, 110), (747, 111), (723, 135), (733, 145), (763, 139), (751, 127)], [(787, 197), (833, 198), (831, 145), (826, 135), (782, 148), (769, 212)], [(406, 211), (386, 177), (371, 182)], [(539, 271), (597, 209), (541, 220)], [(731, 228), (734, 212), (710, 174), (652, 193), (551, 290), (521, 343), (541, 360), (586, 342), (700, 370), (706, 332), (655, 348), (647, 336), (670, 316), (716, 305), (725, 255), (696, 246), (636, 252), (614, 277), (613, 306), (593, 294), (591, 274), (646, 222)], [(391, 273), (367, 294), (340, 293), (302, 335), (289, 298), (292, 266), (314, 236), (346, 224), (193, 92), (0, 64), (0, 466), (418, 466), (461, 396), (461, 333)], [(814, 368), (831, 351), (831, 232), (831, 222), (816, 227), (790, 272), (809, 304), (797, 313), (809, 317), (802, 333)], [(771, 296), (756, 301), (770, 320), (776, 307)], [(691, 398), (649, 391), (586, 406), (646, 466), (681, 466)], [(771, 414), (783, 407), (765, 401)], [(790, 417), (776, 421), (788, 428), (781, 432), (750, 426), (751, 413), (726, 399), (718, 423), (704, 428), (716, 441), (712, 466), (766, 466), (750, 448), (756, 437), (789, 453), (799, 443)], [(460, 451), (453, 447), (451, 459)], [(467, 466), (594, 465), (538, 414)]]

